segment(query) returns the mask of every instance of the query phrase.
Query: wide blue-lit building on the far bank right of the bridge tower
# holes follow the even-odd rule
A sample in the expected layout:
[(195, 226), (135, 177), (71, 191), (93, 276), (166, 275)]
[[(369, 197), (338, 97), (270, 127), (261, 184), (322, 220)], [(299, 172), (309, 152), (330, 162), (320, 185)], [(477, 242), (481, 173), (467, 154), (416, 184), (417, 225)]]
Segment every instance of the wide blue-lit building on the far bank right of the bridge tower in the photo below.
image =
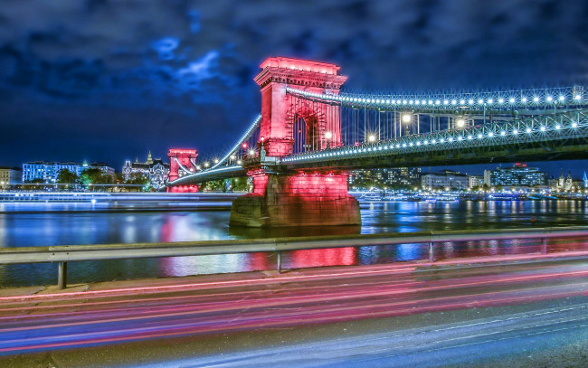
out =
[(484, 172), (484, 183), (489, 186), (536, 186), (547, 184), (547, 175), (537, 167), (515, 164), (513, 167), (498, 167)]

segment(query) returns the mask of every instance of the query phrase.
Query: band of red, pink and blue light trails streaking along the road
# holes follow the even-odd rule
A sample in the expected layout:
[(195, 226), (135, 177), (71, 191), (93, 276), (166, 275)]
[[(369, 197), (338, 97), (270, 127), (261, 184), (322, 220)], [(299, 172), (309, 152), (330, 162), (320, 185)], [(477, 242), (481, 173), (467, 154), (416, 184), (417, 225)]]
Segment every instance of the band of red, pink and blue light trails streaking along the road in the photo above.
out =
[[(175, 286), (180, 288), (149, 287), (150, 293), (132, 300), (129, 300), (133, 296), (128, 295), (128, 289), (117, 289), (122, 290), (122, 294), (100, 290), (111, 293), (93, 295), (88, 301), (82, 301), (85, 293), (76, 293), (80, 302), (75, 303), (78, 310), (72, 311), (63, 310), (73, 307), (68, 305), (26, 306), (21, 301), (21, 305), (25, 304), (22, 307), (28, 309), (1, 310), (4, 316), (0, 354), (588, 296), (588, 282), (585, 281), (588, 269), (583, 265), (575, 268), (556, 264), (511, 267), (514, 269), (507, 273), (485, 268), (483, 274), (479, 274), (480, 269), (455, 269), (450, 277), (439, 279), (436, 273), (448, 271), (431, 273), (430, 270), (416, 271), (416, 268), (381, 266), (338, 272), (308, 270), (307, 275), (254, 278), (248, 290), (233, 288), (242, 288), (251, 279)], [(284, 282), (284, 279), (292, 282)], [(185, 285), (193, 288), (181, 288)], [(227, 292), (218, 292), (220, 285)], [(268, 289), (269, 285), (274, 286)], [(194, 295), (194, 291), (200, 294)], [(26, 302), (51, 303), (55, 301), (52, 296), (38, 296)], [(121, 300), (92, 301), (99, 296)], [(71, 301), (60, 299), (63, 300)], [(14, 299), (9, 301), (15, 304)], [(129, 306), (129, 303), (137, 305)], [(106, 309), (97, 308), (99, 306), (106, 306)], [(47, 313), (42, 314), (26, 314), (35, 307), (54, 309), (47, 308)]]

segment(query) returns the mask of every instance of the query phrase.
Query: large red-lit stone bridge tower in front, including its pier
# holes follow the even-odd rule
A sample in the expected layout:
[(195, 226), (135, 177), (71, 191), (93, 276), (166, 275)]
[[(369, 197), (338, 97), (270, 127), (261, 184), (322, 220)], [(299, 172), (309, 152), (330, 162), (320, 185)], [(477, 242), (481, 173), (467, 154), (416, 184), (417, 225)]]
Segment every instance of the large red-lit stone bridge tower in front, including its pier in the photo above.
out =
[[(347, 77), (335, 64), (289, 58), (261, 63), (260, 155), (244, 161), (253, 193), (232, 203), (232, 225), (253, 227), (359, 225), (359, 203), (347, 193), (347, 173), (329, 170), (280, 172), (271, 165), (295, 148), (341, 146), (337, 107), (297, 99), (287, 88), (337, 95)], [(301, 142), (297, 142), (299, 139)]]

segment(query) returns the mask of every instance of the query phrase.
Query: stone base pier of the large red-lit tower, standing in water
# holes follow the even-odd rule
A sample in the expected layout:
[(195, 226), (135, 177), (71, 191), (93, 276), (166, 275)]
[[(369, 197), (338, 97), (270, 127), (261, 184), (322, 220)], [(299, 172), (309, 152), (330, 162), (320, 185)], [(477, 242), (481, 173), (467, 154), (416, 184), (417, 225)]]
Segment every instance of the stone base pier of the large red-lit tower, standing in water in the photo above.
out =
[(344, 173), (267, 174), (253, 177), (253, 193), (232, 203), (230, 225), (249, 227), (360, 225), (359, 203)]

